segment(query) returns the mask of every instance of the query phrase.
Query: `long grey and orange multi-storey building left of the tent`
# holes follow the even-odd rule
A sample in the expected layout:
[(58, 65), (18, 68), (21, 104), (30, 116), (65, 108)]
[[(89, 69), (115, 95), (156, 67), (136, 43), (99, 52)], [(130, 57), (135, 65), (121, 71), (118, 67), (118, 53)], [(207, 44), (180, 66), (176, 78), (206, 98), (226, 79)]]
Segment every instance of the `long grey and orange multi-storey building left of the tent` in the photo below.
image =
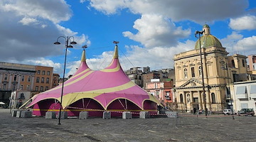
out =
[(0, 62), (0, 101), (9, 104), (14, 91), (31, 95), (53, 87), (53, 67)]

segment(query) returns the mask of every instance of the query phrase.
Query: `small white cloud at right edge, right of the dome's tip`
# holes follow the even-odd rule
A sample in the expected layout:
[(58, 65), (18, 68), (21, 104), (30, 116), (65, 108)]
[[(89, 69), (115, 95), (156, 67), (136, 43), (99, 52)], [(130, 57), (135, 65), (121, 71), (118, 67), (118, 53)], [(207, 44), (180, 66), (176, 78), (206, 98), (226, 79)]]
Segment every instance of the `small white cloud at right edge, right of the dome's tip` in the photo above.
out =
[(230, 28), (233, 30), (254, 30), (256, 29), (256, 16), (242, 16), (240, 18), (230, 18)]

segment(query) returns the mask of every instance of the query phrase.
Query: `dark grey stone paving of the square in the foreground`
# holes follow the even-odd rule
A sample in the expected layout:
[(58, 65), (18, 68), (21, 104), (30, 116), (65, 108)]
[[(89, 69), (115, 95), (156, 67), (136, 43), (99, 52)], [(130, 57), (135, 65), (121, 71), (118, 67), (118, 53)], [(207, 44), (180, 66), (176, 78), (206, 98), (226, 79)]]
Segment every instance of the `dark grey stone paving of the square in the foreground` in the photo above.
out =
[(0, 141), (256, 141), (256, 116), (151, 119), (11, 117), (0, 109)]

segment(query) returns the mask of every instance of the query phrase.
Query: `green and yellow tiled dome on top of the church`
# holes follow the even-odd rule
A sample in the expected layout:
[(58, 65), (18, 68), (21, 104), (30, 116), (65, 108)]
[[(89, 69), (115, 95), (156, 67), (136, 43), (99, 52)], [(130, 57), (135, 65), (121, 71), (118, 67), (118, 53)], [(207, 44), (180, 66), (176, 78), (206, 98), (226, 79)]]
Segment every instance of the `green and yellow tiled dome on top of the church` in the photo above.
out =
[[(201, 40), (202, 48), (208, 48), (208, 47), (213, 47), (213, 46), (218, 47), (218, 48), (223, 48), (223, 46), (220, 43), (220, 40), (218, 40), (218, 38), (216, 38), (213, 35), (210, 35), (210, 34), (203, 35), (203, 36), (201, 36), (200, 40)], [(195, 49), (200, 49), (199, 39), (196, 41)]]

